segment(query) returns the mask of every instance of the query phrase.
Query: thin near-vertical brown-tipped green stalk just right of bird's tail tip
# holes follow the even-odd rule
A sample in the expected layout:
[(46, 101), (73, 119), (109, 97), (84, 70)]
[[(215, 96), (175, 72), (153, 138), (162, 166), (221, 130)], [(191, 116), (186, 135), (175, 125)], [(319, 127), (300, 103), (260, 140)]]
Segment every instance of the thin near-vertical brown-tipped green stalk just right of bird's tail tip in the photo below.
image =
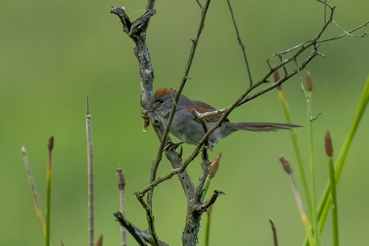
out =
[[(308, 78), (309, 77), (309, 78)], [(308, 73), (308, 77), (307, 80), (310, 80), (310, 73)], [(311, 86), (311, 81), (310, 81), (310, 86)], [(307, 86), (307, 96), (310, 99), (310, 103), (311, 103), (311, 96), (312, 96), (312, 92), (311, 92), (311, 88), (309, 90), (308, 86)], [(308, 120), (308, 131), (309, 131), (309, 159), (310, 159), (310, 176), (311, 176), (311, 197), (313, 200), (313, 206), (312, 206), (312, 219), (311, 219), (311, 223), (313, 224), (313, 232), (314, 232), (314, 238), (315, 238), (315, 243), (317, 246), (321, 245), (321, 239), (320, 239), (320, 232), (318, 230), (318, 216), (317, 216), (317, 201), (316, 201), (316, 192), (315, 192), (315, 172), (314, 172), (314, 164), (313, 164), (313, 156), (314, 156), (314, 150), (313, 150), (313, 119), (311, 117), (310, 114), (310, 110), (309, 110), (309, 106), (307, 106), (307, 120)]]

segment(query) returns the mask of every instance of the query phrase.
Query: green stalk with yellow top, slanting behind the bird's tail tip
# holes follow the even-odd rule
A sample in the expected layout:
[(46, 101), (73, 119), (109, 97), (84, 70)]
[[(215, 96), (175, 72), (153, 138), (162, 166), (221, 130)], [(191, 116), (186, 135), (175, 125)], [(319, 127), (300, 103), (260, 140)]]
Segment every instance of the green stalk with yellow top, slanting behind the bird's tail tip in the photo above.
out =
[[(287, 104), (286, 99), (284, 98), (282, 88), (280, 88), (280, 87), (278, 89), (278, 96), (279, 96), (279, 99), (282, 101), (282, 107), (283, 107), (283, 111), (284, 111), (284, 116), (286, 117), (286, 121), (287, 121), (287, 123), (292, 124), (288, 104)], [(313, 221), (315, 219), (315, 218), (313, 218), (313, 205), (311, 203), (310, 192), (309, 192), (307, 179), (306, 179), (306, 174), (305, 174), (305, 170), (304, 170), (304, 166), (303, 166), (303, 162), (302, 162), (302, 158), (301, 158), (300, 148), (299, 148), (299, 145), (297, 143), (297, 137), (296, 137), (296, 134), (295, 134), (293, 128), (290, 129), (290, 135), (291, 135), (291, 139), (292, 139), (293, 148), (294, 148), (295, 153), (296, 153), (297, 164), (299, 165), (299, 171), (300, 171), (301, 181), (302, 181), (303, 188), (304, 188), (307, 207), (308, 207), (308, 210), (309, 210), (309, 214), (311, 216), (311, 221)]]

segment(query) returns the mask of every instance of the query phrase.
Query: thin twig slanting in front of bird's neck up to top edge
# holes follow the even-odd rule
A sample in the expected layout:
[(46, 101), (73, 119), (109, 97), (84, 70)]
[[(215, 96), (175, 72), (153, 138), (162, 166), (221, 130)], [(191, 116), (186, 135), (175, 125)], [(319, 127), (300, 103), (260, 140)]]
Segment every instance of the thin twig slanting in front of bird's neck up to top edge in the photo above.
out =
[[(204, 28), (206, 13), (207, 13), (209, 4), (210, 4), (210, 0), (207, 0), (206, 3), (205, 3), (205, 6), (203, 7), (203, 9), (201, 11), (201, 19), (200, 19), (199, 28), (197, 29), (196, 38), (193, 39), (190, 55), (189, 55), (189, 58), (187, 60), (186, 67), (184, 69), (184, 75), (183, 75), (182, 80), (179, 84), (179, 87), (176, 91), (176, 96), (175, 96), (175, 100), (174, 100), (174, 103), (173, 103), (172, 112), (170, 113), (168, 123), (166, 124), (165, 130), (164, 130), (164, 133), (163, 133), (163, 137), (162, 137), (161, 142), (160, 142), (158, 154), (157, 154), (155, 162), (154, 162), (154, 167), (153, 167), (153, 170), (152, 170), (152, 180), (153, 181), (156, 179), (156, 171), (158, 170), (159, 163), (162, 159), (164, 145), (166, 143), (166, 139), (167, 139), (169, 131), (170, 131), (170, 126), (172, 125), (172, 121), (173, 121), (173, 118), (174, 118), (174, 115), (175, 115), (175, 112), (176, 112), (176, 109), (177, 109), (176, 105), (178, 103), (180, 94), (182, 93), (183, 87), (186, 84), (186, 81), (188, 79), (188, 74), (189, 74), (189, 71), (190, 71), (190, 67), (192, 65), (193, 57), (195, 55), (197, 43), (199, 42), (201, 31)], [(148, 194), (148, 205), (150, 207), (151, 207), (151, 204), (152, 204), (152, 192), (153, 191), (151, 190)]]

